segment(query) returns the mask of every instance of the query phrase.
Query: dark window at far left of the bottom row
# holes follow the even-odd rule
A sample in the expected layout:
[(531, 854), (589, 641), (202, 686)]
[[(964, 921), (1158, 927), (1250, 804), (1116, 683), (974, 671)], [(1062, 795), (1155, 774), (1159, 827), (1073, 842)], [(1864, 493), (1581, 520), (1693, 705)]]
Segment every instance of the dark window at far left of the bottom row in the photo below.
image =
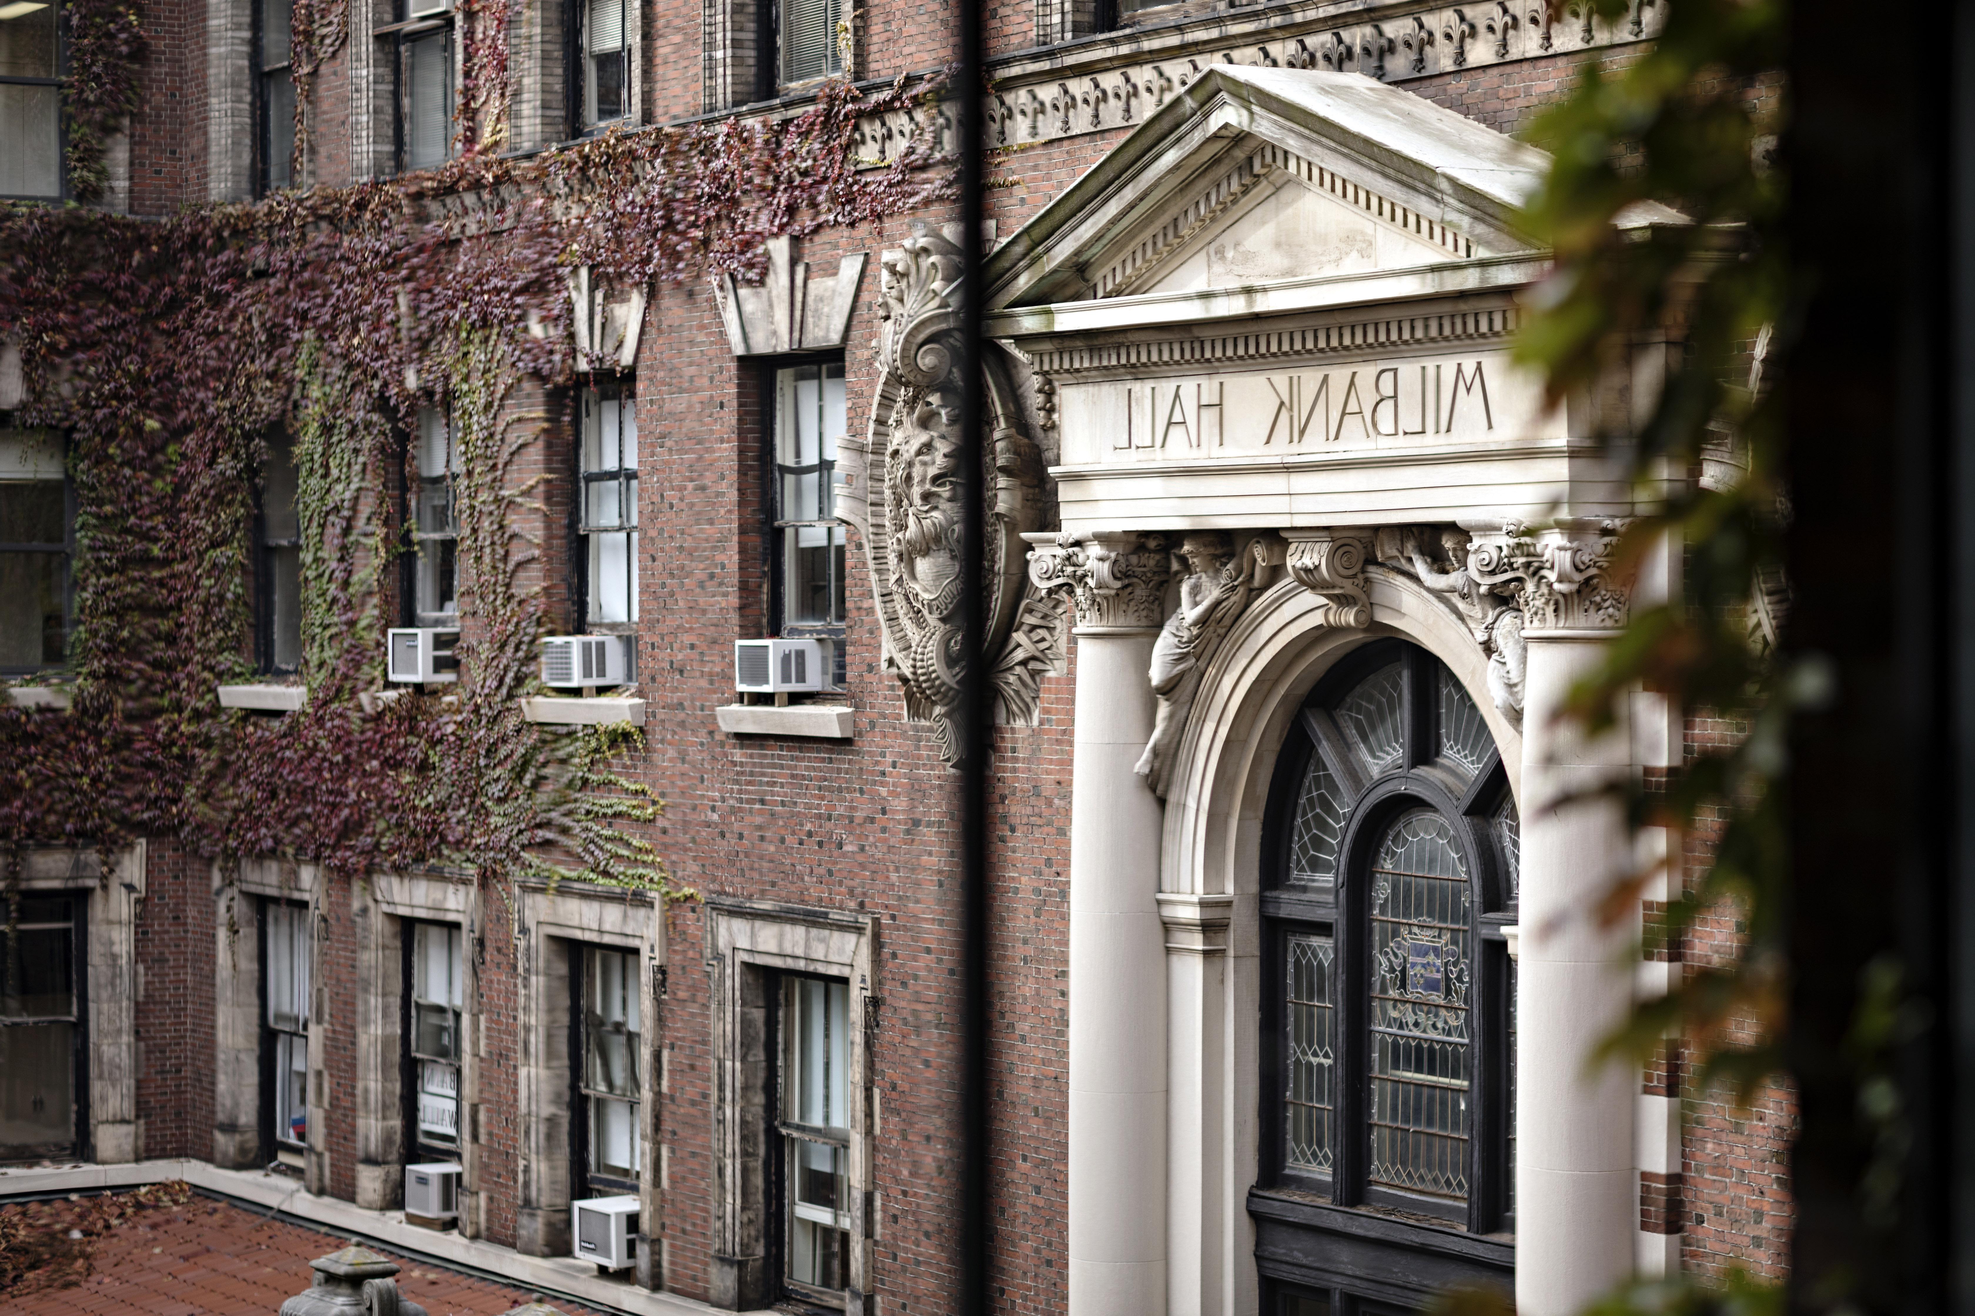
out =
[(83, 1150), (81, 923), (79, 898), (0, 896), (0, 1160)]

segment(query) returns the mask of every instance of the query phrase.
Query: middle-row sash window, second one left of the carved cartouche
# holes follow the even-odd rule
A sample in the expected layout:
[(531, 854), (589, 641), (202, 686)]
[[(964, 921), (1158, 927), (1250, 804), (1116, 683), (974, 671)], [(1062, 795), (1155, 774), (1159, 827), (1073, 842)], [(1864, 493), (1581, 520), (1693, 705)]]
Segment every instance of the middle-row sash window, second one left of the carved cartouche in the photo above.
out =
[(577, 531), (585, 621), (638, 620), (638, 402), (624, 385), (583, 389)]

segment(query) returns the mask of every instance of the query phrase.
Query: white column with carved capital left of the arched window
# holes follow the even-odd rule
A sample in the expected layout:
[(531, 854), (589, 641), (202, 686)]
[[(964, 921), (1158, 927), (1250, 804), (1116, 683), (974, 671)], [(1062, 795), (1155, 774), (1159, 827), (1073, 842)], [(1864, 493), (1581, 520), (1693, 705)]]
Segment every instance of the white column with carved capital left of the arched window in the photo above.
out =
[[(1041, 539), (1041, 537), (1037, 537)], [(1076, 608), (1070, 775), (1070, 1316), (1165, 1312), (1165, 933), (1157, 795), (1134, 771), (1153, 726), (1157, 537), (1063, 539), (1029, 578)]]

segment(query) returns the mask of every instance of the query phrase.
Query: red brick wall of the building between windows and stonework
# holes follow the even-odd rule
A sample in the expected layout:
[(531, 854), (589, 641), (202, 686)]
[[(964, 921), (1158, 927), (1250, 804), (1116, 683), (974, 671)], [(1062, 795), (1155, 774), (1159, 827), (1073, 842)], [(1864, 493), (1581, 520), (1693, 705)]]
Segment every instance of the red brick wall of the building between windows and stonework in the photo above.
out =
[[(701, 34), (707, 6), (652, 0), (644, 6), (642, 89), (646, 112), (664, 122), (709, 107), (709, 63)], [(739, 6), (735, 6), (739, 8)], [(752, 10), (752, 6), (749, 6)], [(1224, 24), (1266, 28), (1242, 10)], [(989, 39), (999, 53), (1039, 37), (1092, 28), (1096, 8), (1068, 0), (989, 6)], [(371, 16), (375, 22), (383, 18)], [(211, 164), (205, 126), (205, 10), (196, 0), (150, 0), (138, 120), (130, 132), (130, 209), (164, 215), (203, 201)], [(946, 61), (944, 6), (879, 0), (857, 10), (861, 77), (891, 79)], [(375, 24), (371, 24), (375, 26)], [(383, 97), (359, 95), (369, 79), (391, 79), (389, 41), (369, 51), (356, 41), (322, 69), (314, 89), (312, 178), (346, 183), (354, 136), (389, 140), (391, 126), (356, 132), (352, 112)], [(515, 28), (517, 37), (523, 26)], [(545, 39), (545, 37), (543, 37)], [(517, 59), (549, 67), (553, 59)], [(752, 57), (752, 55), (749, 55)], [(1410, 89), (1491, 128), (1517, 132), (1554, 103), (1592, 57), (1558, 53), (1442, 73)], [(517, 89), (525, 122), (545, 136), (551, 116), (541, 87)], [(729, 95), (727, 103), (735, 97)], [(354, 109), (356, 107), (356, 109)], [(523, 118), (517, 116), (517, 118)], [(1005, 185), (991, 195), (999, 235), (1021, 227), (1088, 170), (1126, 128), (1086, 132), (1007, 154)], [(227, 140), (227, 138), (219, 138)], [(235, 138), (237, 140), (237, 138)], [(531, 142), (537, 144), (537, 142)], [(877, 253), (908, 231), (908, 219), (938, 223), (944, 211), (887, 221), (873, 231), (824, 231), (800, 256), (833, 264), (845, 253)], [(847, 337), (851, 426), (871, 410), (877, 337), (877, 268), (867, 268)], [(952, 775), (930, 734), (901, 716), (897, 685), (881, 671), (877, 621), (863, 545), (851, 533), (847, 691), (855, 736), (847, 742), (745, 738), (717, 730), (713, 708), (733, 700), (735, 639), (768, 633), (772, 537), (764, 525), (766, 416), (772, 363), (737, 359), (703, 282), (652, 290), (636, 387), (640, 436), (642, 621), (638, 683), (648, 700), (646, 752), (634, 775), (666, 801), (654, 829), (675, 880), (701, 894), (747, 896), (792, 906), (861, 912), (881, 919), (883, 959), (871, 992), (881, 998), (871, 1042), (877, 1206), (875, 1275), (881, 1306), (928, 1316), (954, 1310), (958, 1174), (958, 854)], [(539, 556), (523, 584), (539, 586), (557, 627), (579, 627), (571, 592), (573, 450), (567, 395), (510, 399), (512, 414), (547, 408), (557, 418), (517, 470), (539, 479), (539, 509), (519, 513)], [(468, 620), (470, 623), (470, 620)], [(1066, 673), (1043, 681), (1037, 726), (999, 728), (991, 781), (995, 874), (995, 1259), (997, 1310), (1065, 1308), (1066, 1202), (1066, 937), (1070, 693)], [(1734, 736), (1738, 728), (1691, 720), (1689, 746)], [(1691, 860), (1708, 837), (1689, 837)], [(211, 1048), (215, 945), (211, 864), (154, 841), (140, 923), (142, 1042), (140, 1117), (144, 1154), (211, 1154)], [(357, 953), (350, 892), (330, 884), (320, 914), (320, 1020), (328, 1046), (330, 1190), (356, 1196)], [(517, 1085), (523, 1063), (519, 963), (523, 937), (500, 894), (484, 900), (478, 961), (482, 1054), (478, 1103), (466, 1111), (478, 1144), (480, 1233), (512, 1245), (527, 1176), (519, 1134)], [(675, 904), (666, 915), (668, 992), (648, 1022), (660, 1032), (662, 1073), (648, 1075), (664, 1166), (662, 1275), (670, 1290), (707, 1298), (713, 1273), (717, 1200), (713, 1119), (719, 1109), (711, 1054), (711, 998), (705, 971), (703, 910)], [(1704, 961), (1738, 935), (1734, 919), (1710, 919), (1685, 947)], [(1683, 1267), (1720, 1275), (1734, 1265), (1778, 1275), (1789, 1223), (1781, 1152), (1789, 1099), (1766, 1091), (1738, 1111), (1718, 1093), (1693, 1091), (1677, 1048), (1655, 1061), (1645, 1091), (1685, 1095), (1689, 1133), (1683, 1172), (1641, 1178), (1639, 1221), (1651, 1233), (1683, 1233)]]

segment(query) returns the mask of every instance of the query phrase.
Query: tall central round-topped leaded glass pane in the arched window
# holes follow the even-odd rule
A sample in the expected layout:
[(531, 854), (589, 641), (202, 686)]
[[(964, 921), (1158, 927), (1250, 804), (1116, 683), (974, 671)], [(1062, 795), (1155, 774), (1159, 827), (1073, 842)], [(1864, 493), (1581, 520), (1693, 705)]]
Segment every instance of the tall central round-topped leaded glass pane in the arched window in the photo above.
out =
[(1454, 829), (1430, 809), (1400, 815), (1371, 878), (1369, 1178), (1465, 1198), (1471, 933)]

